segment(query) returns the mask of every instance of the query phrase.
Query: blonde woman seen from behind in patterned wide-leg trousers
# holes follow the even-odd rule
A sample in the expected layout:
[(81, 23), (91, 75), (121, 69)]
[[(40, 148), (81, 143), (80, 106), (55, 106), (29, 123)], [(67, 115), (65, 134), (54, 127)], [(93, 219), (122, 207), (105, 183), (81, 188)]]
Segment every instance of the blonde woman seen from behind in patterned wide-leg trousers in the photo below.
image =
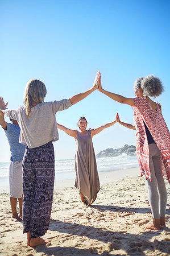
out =
[(23, 233), (27, 245), (44, 245), (41, 238), (47, 232), (51, 216), (55, 159), (52, 141), (59, 139), (55, 114), (81, 101), (98, 87), (98, 76), (93, 87), (68, 100), (44, 102), (47, 90), (42, 81), (30, 80), (24, 92), (24, 104), (8, 110), (3, 98), (3, 112), (20, 126), (19, 142), (26, 145), (23, 158)]

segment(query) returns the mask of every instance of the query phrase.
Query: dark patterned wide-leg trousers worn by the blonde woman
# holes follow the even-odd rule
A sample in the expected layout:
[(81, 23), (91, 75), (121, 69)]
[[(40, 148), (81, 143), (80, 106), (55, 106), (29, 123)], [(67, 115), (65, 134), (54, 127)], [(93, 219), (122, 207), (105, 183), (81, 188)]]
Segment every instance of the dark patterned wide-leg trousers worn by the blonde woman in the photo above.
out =
[(26, 148), (23, 158), (23, 233), (44, 236), (51, 216), (55, 159), (52, 142)]

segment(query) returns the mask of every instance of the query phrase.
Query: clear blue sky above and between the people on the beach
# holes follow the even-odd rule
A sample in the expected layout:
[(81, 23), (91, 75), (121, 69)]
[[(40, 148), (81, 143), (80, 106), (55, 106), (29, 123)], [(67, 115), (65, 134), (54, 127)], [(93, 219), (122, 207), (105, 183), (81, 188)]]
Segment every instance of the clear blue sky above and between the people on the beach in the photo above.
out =
[[(169, 11), (169, 0), (1, 0), (0, 96), (9, 101), (9, 109), (18, 108), (26, 82), (36, 78), (47, 87), (45, 101), (69, 98), (89, 89), (99, 70), (103, 88), (134, 97), (135, 79), (154, 74), (164, 85), (156, 101), (169, 127)], [(130, 106), (95, 91), (56, 117), (77, 129), (77, 119), (84, 115), (88, 127), (96, 128), (113, 121), (117, 112), (122, 121), (133, 122)], [(74, 139), (63, 131), (59, 136), (56, 159), (74, 158)], [(0, 162), (5, 162), (10, 152), (2, 129), (0, 138)], [(135, 144), (135, 131), (117, 123), (93, 143), (96, 154)]]

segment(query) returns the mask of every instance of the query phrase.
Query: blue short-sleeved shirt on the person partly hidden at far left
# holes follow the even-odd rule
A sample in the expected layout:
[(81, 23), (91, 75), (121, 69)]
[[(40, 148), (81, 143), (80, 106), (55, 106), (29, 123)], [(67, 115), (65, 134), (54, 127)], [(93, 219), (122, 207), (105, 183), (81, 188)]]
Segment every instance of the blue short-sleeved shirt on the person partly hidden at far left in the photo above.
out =
[(13, 123), (7, 123), (7, 130), (5, 130), (5, 134), (10, 145), (11, 161), (21, 161), (23, 159), (26, 146), (19, 143), (19, 126), (13, 125)]

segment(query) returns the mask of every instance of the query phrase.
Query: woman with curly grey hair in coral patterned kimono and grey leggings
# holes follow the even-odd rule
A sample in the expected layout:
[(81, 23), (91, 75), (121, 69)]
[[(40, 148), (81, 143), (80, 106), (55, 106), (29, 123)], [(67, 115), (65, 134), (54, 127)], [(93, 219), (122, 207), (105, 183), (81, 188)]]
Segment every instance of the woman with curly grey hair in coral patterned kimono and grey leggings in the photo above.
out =
[(152, 101), (163, 92), (159, 78), (151, 75), (140, 77), (135, 81), (135, 98), (107, 92), (101, 86), (98, 90), (106, 96), (122, 104), (132, 106), (136, 129), (136, 154), (141, 176), (144, 175), (148, 184), (148, 195), (151, 205), (153, 222), (145, 226), (147, 229), (159, 230), (165, 226), (165, 209), (167, 190), (164, 176), (170, 183), (170, 134), (161, 114), (159, 104)]

